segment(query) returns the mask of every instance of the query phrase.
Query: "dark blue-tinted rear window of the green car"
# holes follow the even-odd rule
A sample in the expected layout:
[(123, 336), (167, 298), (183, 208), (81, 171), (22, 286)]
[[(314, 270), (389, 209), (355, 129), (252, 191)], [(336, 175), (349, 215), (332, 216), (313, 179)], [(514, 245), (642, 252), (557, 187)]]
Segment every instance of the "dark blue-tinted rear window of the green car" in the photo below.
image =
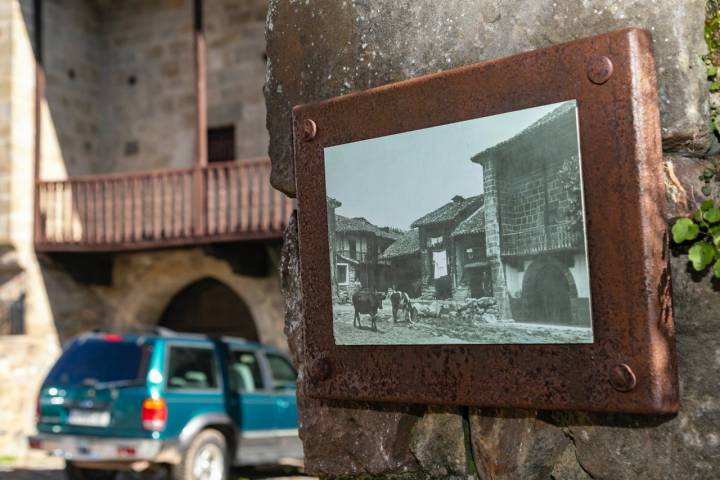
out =
[(152, 346), (103, 338), (75, 340), (45, 380), (47, 386), (140, 384), (147, 373)]

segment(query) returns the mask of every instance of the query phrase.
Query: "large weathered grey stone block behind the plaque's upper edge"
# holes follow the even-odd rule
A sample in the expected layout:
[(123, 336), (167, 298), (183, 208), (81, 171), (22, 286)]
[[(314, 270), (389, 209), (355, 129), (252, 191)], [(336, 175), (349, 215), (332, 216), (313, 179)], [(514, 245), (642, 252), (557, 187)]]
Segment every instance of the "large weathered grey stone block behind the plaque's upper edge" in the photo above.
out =
[(702, 0), (272, 0), (265, 95), (273, 185), (295, 191), (293, 105), (626, 26), (653, 34), (665, 144), (703, 151), (704, 6)]

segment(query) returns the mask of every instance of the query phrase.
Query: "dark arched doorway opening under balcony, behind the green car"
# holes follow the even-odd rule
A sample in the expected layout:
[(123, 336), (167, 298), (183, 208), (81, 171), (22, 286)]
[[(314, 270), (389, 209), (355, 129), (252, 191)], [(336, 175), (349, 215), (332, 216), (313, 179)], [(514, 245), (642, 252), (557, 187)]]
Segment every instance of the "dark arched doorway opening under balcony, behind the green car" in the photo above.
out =
[(259, 340), (250, 309), (242, 298), (224, 283), (209, 277), (178, 292), (165, 307), (158, 325), (178, 332)]

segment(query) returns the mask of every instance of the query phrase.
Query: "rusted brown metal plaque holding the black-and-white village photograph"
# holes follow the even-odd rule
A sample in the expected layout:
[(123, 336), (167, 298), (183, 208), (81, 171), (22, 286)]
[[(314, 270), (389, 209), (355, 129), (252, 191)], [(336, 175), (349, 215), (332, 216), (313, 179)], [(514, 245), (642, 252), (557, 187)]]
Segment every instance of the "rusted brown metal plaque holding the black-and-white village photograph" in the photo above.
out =
[[(511, 181), (489, 182), (493, 164), (488, 163), (487, 154), (480, 153), (472, 158), (484, 169), (478, 195), (458, 195), (452, 199), (455, 203), (441, 206), (412, 225), (384, 228), (373, 224), (372, 219), (335, 215), (342, 200), (328, 192), (327, 185), (334, 184), (326, 170), (326, 157), (334, 152), (333, 147), (494, 115), (501, 118), (501, 114), (554, 104), (571, 105), (566, 110), (574, 108), (576, 112), (573, 118), (579, 137), (585, 245), (568, 239), (557, 229), (552, 232), (547, 229), (564, 208), (556, 206), (548, 213), (553, 202), (557, 205), (557, 195), (549, 188), (536, 189), (541, 198), (537, 202), (547, 206), (540, 216), (545, 230), (530, 235), (530, 240), (524, 243), (513, 243), (511, 236), (516, 232), (508, 227), (510, 220), (502, 220), (511, 217), (498, 212), (502, 209), (510, 212), (515, 207), (504, 206), (508, 203), (503, 200), (504, 194), (497, 193), (512, 189), (506, 185)], [(532, 127), (526, 130), (531, 131)], [(604, 412), (677, 411), (658, 95), (649, 33), (620, 30), (298, 106), (294, 109), (294, 134), (304, 341), (311, 396)], [(538, 135), (534, 145), (543, 148), (544, 144), (559, 141)], [(531, 151), (532, 148), (524, 150)], [(505, 166), (497, 167), (498, 171), (518, 161), (513, 156), (502, 158)], [(438, 155), (437, 162), (447, 161)], [(368, 165), (374, 164), (368, 159)], [(566, 175), (571, 167), (558, 171)], [(516, 176), (530, 170), (514, 168)], [(376, 171), (378, 182), (391, 170)], [(353, 168), (348, 168), (347, 176), (358, 175), (358, 171), (356, 162)], [(337, 172), (333, 175), (337, 176)], [(545, 182), (549, 185), (558, 175), (551, 171)], [(399, 176), (393, 181), (403, 182), (407, 178)], [(375, 187), (368, 188), (368, 195), (375, 196), (376, 192)], [(483, 212), (478, 213), (483, 215), (482, 222), (472, 220), (477, 218), (474, 217), (477, 212)], [(500, 223), (493, 225), (488, 212), (501, 218)], [(444, 233), (432, 230), (436, 225), (432, 222), (438, 218), (450, 222), (442, 225), (452, 228)], [(527, 218), (535, 221), (538, 216)], [(473, 238), (471, 235), (481, 228), (484, 228), (481, 254), (472, 246), (458, 243), (462, 238)], [(417, 247), (408, 247), (415, 245), (410, 235), (413, 229), (418, 232)], [(331, 232), (359, 232), (365, 243), (356, 244), (354, 239), (343, 243), (345, 240), (331, 238)], [(452, 247), (447, 246), (450, 244)], [(359, 245), (364, 245), (364, 249)], [(447, 249), (447, 256), (441, 253), (442, 249)], [(338, 312), (356, 308), (348, 285), (365, 293), (361, 310), (368, 309), (367, 302), (371, 303), (370, 310), (372, 302), (384, 303), (385, 309), (378, 325), (371, 324), (367, 314), (360, 315), (360, 327), (354, 322), (345, 325), (343, 328), (355, 329), (346, 330), (351, 333), (373, 335), (397, 328), (438, 329), (461, 321), (467, 323), (467, 328), (477, 324), (482, 329), (483, 324), (493, 323), (488, 318), (507, 316), (504, 311), (511, 312), (518, 324), (524, 323), (523, 318), (532, 322), (533, 315), (540, 315), (538, 312), (543, 309), (567, 308), (568, 312), (572, 310), (568, 315), (578, 318), (577, 312), (585, 308), (580, 301), (584, 294), (580, 293), (579, 285), (568, 289), (572, 302), (565, 307), (562, 302), (551, 302), (548, 306), (543, 300), (557, 293), (552, 290), (535, 292), (532, 301), (525, 298), (530, 281), (519, 279), (534, 277), (538, 284), (553, 282), (549, 279), (552, 268), (533, 266), (537, 259), (533, 255), (538, 249), (545, 249), (543, 252), (552, 257), (552, 262), (545, 263), (562, 269), (565, 262), (573, 275), (578, 270), (573, 258), (577, 259), (577, 252), (585, 255), (586, 271), (590, 272), (588, 288), (592, 292), (591, 296), (586, 295), (587, 309), (592, 312), (592, 330), (584, 340), (456, 343), (449, 334), (450, 340), (435, 344), (338, 341), (333, 309), (337, 319)], [(399, 287), (393, 280), (392, 265), (397, 254), (418, 255), (421, 285), (417, 291), (410, 292), (414, 288), (411, 282)], [(368, 273), (371, 264), (375, 272), (372, 275)], [(487, 291), (484, 289), (490, 288), (484, 277), (472, 273), (484, 267), (488, 268), (495, 300), (488, 300), (485, 297), (490, 294), (483, 294)], [(425, 288), (422, 280), (433, 278), (433, 271), (435, 279), (438, 275), (450, 279), (447, 291), (437, 280), (430, 285), (433, 288)], [(514, 280), (508, 280), (507, 272), (516, 276)], [(344, 299), (339, 291), (341, 285), (346, 290)], [(515, 294), (513, 288), (518, 289)], [(387, 297), (398, 291), (412, 293), (409, 296), (416, 307), (409, 311), (418, 318), (389, 317), (393, 302)], [(378, 295), (380, 292), (386, 296), (384, 300)], [(439, 305), (439, 310), (422, 311), (433, 303), (433, 295), (439, 298), (434, 306), (437, 309)], [(488, 307), (484, 302), (492, 305)], [(503, 302), (506, 305), (501, 305)], [(467, 305), (486, 310), (467, 320), (462, 313)], [(530, 308), (537, 305), (540, 306)], [(402, 321), (406, 322), (404, 327), (399, 326)]]

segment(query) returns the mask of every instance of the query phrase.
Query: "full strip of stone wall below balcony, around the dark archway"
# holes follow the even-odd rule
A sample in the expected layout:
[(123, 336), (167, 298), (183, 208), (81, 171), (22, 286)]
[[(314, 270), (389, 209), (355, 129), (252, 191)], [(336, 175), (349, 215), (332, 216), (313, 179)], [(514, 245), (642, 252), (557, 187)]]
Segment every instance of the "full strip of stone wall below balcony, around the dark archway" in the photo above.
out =
[(176, 294), (194, 282), (213, 278), (247, 304), (263, 343), (287, 349), (280, 281), (274, 270), (264, 277), (238, 274), (229, 262), (201, 248), (118, 254), (113, 260), (110, 285), (79, 283), (63, 265), (50, 259), (42, 265), (61, 341), (92, 328), (123, 331), (157, 325)]

